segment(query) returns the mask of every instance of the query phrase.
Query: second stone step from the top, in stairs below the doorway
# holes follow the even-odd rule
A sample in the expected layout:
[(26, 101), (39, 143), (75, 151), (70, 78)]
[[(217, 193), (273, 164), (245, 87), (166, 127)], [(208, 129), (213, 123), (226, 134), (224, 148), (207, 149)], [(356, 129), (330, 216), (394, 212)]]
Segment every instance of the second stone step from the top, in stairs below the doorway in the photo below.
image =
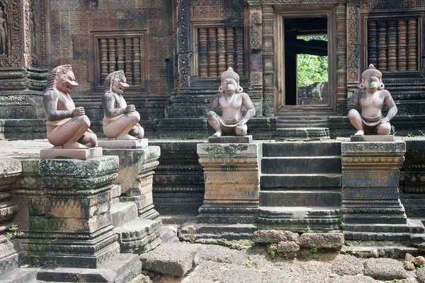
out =
[(263, 174), (341, 173), (340, 156), (263, 157)]

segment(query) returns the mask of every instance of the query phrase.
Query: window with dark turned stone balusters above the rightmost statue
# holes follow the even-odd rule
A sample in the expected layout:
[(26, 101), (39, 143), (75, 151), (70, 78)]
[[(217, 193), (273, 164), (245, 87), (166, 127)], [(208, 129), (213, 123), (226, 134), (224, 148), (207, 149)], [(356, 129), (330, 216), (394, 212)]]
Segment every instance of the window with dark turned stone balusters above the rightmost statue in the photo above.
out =
[(419, 18), (368, 18), (368, 64), (380, 71), (419, 70)]

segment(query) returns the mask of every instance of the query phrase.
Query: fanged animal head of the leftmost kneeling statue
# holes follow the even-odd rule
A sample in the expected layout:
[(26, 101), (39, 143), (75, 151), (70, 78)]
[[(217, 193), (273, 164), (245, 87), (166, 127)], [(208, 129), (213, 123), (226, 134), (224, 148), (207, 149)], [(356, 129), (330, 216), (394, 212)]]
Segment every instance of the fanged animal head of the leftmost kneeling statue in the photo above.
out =
[(47, 90), (56, 88), (62, 93), (69, 94), (76, 86), (75, 75), (71, 65), (58, 66), (52, 69), (47, 79)]

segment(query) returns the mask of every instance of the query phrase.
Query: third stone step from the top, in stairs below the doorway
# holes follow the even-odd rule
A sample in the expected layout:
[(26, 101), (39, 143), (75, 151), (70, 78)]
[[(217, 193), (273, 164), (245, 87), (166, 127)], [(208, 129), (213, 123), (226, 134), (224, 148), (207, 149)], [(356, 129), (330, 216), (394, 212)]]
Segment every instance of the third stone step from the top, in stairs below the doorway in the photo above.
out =
[(341, 187), (341, 174), (262, 174), (261, 190), (269, 187)]

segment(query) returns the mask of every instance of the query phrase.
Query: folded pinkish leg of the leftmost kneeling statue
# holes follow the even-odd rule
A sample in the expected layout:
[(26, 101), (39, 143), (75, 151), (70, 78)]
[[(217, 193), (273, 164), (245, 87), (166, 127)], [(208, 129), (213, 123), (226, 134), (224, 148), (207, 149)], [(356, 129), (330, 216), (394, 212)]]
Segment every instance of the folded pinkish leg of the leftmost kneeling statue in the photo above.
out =
[(77, 141), (89, 127), (89, 117), (86, 115), (74, 117), (51, 132), (47, 132), (47, 140), (54, 146), (62, 146), (63, 149), (85, 149), (87, 146), (79, 144)]

